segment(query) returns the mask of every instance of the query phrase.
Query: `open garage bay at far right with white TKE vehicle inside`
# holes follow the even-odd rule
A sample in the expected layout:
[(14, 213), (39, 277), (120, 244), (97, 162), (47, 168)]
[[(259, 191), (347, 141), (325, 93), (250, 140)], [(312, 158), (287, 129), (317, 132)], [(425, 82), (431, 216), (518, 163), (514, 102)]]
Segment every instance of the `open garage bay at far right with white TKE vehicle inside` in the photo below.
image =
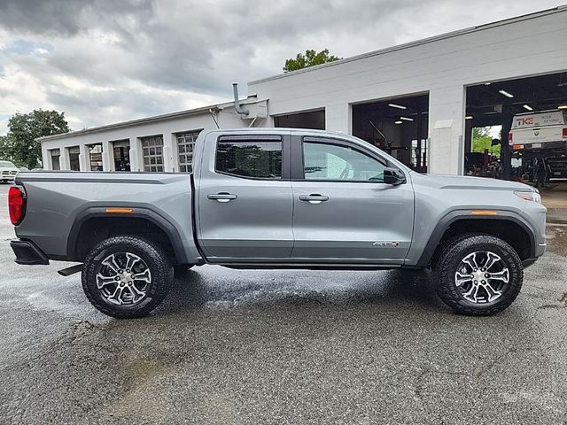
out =
[(533, 182), (545, 167), (567, 178), (567, 73), (485, 82), (466, 98), (465, 174)]

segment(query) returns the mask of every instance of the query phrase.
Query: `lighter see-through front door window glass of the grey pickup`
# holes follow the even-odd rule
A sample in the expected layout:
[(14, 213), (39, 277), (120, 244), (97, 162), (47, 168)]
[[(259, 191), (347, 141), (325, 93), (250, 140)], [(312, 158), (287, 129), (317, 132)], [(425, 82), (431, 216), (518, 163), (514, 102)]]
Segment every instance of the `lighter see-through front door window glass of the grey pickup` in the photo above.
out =
[(384, 164), (361, 151), (332, 143), (303, 143), (306, 180), (384, 182)]

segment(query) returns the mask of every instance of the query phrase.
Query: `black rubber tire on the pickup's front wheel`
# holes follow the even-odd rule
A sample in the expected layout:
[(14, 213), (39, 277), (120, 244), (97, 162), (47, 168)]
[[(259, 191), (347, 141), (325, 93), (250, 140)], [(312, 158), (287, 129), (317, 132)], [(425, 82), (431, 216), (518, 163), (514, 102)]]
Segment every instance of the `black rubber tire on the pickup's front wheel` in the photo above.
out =
[[(487, 256), (483, 258), (483, 255), (486, 255), (483, 252), (490, 252), (500, 257), (493, 267), (498, 266), (502, 270), (507, 269), (507, 273), (504, 275), (508, 277), (508, 282), (504, 283), (496, 279), (492, 282), (489, 279), (481, 281), (474, 280), (476, 277), (472, 277), (470, 281), (462, 283), (461, 288), (459, 288), (456, 283), (457, 272), (462, 271), (460, 267), (463, 266), (463, 260), (467, 259), (473, 252), (478, 252), (480, 256), (479, 262), (484, 259), (485, 261), (483, 262), (485, 264), (489, 263)], [(469, 267), (469, 263), (465, 264), (466, 267)], [(482, 270), (485, 270), (485, 267), (479, 267), (478, 269), (470, 267), (470, 269), (467, 268), (467, 273), (470, 273), (470, 276), (475, 276), (477, 273), (486, 273), (485, 276), (496, 274), (493, 272), (493, 268), (485, 272)], [(491, 273), (488, 274), (488, 272)], [(460, 274), (459, 277), (461, 275), (463, 274)], [(478, 279), (482, 279), (482, 276)], [(523, 281), (524, 267), (514, 248), (498, 237), (483, 234), (456, 236), (454, 239), (449, 240), (441, 247), (439, 257), (433, 264), (433, 273), (431, 274), (431, 282), (439, 298), (451, 307), (454, 312), (470, 316), (489, 316), (508, 308), (517, 298), (522, 289)], [(489, 291), (485, 290), (485, 287), (480, 284), (480, 290), (474, 293), (474, 295), (469, 295), (469, 298), (465, 298), (470, 293), (469, 288), (472, 291), (473, 284), (476, 287), (478, 286), (478, 283), (474, 282), (488, 282), (491, 285), (496, 285), (494, 287), (498, 289), (497, 292), (500, 292), (500, 295), (498, 295), (498, 298), (493, 298), (497, 292), (489, 294)], [(467, 287), (465, 285), (470, 286)], [(471, 297), (477, 299), (478, 294), (480, 296), (477, 302), (470, 300)], [(491, 298), (493, 299), (491, 300)]]

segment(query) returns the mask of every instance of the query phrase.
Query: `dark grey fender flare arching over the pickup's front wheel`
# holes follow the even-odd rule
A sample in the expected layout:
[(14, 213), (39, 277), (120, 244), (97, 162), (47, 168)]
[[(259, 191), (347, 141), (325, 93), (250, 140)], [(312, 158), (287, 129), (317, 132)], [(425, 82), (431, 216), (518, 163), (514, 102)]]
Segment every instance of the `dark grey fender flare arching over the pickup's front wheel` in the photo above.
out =
[(529, 257), (535, 256), (535, 234), (533, 233), (532, 226), (524, 220), (519, 214), (511, 212), (511, 211), (502, 211), (502, 210), (495, 210), (497, 211), (497, 215), (470, 215), (470, 209), (467, 210), (454, 210), (450, 213), (444, 215), (441, 220), (437, 223), (437, 226), (433, 229), (429, 241), (427, 245), (425, 245), (425, 249), (423, 250), (422, 256), (420, 257), (419, 261), (417, 261), (417, 267), (426, 267), (429, 265), (433, 254), (437, 250), (439, 246), (439, 242), (447, 229), (454, 224), (456, 221), (459, 220), (503, 220), (503, 221), (511, 221), (521, 228), (527, 233), (530, 237), (530, 253)]

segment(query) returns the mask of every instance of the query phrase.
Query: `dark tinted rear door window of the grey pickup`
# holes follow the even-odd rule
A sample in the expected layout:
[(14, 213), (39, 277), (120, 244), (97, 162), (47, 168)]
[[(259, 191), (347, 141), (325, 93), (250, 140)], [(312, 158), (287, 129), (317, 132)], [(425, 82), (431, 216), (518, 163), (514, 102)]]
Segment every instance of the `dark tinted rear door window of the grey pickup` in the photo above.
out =
[(282, 178), (282, 142), (219, 141), (215, 170), (257, 179)]

